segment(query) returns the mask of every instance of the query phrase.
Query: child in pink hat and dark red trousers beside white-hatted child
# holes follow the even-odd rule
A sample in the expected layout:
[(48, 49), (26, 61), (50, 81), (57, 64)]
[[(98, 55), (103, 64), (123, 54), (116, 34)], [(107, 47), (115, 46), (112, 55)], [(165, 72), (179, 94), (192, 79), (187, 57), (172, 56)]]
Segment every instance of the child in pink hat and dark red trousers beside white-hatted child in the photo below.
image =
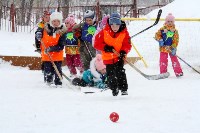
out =
[(76, 67), (78, 70), (80, 70), (80, 74), (82, 74), (84, 71), (79, 52), (80, 40), (78, 40), (78, 38), (72, 32), (72, 27), (75, 24), (74, 16), (71, 15), (65, 19), (65, 25), (67, 27), (67, 33), (65, 34), (65, 53), (66, 64), (71, 74), (70, 77), (76, 77)]

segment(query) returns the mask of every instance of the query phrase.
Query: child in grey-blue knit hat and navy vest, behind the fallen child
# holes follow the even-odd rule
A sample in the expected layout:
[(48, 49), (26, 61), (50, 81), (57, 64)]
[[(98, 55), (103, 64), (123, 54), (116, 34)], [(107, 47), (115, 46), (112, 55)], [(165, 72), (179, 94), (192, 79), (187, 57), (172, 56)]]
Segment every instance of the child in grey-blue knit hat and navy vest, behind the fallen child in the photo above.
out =
[(73, 27), (73, 32), (75, 35), (80, 33), (80, 55), (83, 63), (84, 70), (89, 69), (90, 61), (96, 55), (96, 50), (92, 46), (92, 37), (96, 31), (96, 26), (94, 22), (94, 12), (87, 10), (84, 14), (84, 23), (80, 23)]

